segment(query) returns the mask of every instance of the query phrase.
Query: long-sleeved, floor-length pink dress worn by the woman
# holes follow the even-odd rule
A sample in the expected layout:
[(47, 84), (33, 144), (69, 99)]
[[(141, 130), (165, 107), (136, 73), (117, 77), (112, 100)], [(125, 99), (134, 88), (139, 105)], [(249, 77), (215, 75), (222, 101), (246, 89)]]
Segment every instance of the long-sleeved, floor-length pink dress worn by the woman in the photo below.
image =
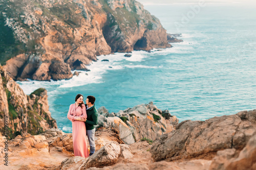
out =
[(87, 118), (86, 106), (83, 104), (81, 107), (76, 107), (75, 104), (71, 104), (68, 112), (68, 119), (72, 121), (72, 137), (74, 146), (74, 155), (87, 158), (89, 152), (87, 149), (86, 139), (86, 125), (84, 122), (75, 120), (76, 117)]

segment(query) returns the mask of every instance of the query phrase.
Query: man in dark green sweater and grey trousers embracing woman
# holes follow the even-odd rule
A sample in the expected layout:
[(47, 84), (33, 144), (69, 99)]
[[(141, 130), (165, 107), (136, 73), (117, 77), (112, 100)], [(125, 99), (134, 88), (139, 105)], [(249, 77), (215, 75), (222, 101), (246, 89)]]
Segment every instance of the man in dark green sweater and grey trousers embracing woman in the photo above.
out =
[(92, 95), (88, 95), (86, 99), (86, 113), (87, 119), (85, 120), (86, 123), (86, 134), (88, 136), (88, 140), (90, 143), (90, 156), (95, 152), (95, 127), (98, 125), (98, 111), (94, 105), (95, 98)]

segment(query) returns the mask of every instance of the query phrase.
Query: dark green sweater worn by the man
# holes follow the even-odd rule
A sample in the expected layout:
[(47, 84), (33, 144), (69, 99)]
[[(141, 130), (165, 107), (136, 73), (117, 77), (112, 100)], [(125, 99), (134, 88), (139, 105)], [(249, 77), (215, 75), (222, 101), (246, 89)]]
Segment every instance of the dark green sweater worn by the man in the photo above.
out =
[[(87, 105), (86, 105), (87, 107)], [(86, 130), (92, 130), (98, 125), (98, 111), (93, 105), (90, 109), (86, 110), (87, 120), (86, 120)]]

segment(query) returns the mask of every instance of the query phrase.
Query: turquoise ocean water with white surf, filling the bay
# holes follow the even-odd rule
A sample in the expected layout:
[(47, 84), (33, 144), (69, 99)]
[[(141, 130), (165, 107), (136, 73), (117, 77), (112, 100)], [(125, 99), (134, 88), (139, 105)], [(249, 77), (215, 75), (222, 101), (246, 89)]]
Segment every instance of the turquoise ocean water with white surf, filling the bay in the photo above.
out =
[(71, 80), (18, 83), (26, 94), (39, 87), (48, 90), (49, 110), (64, 132), (72, 131), (67, 113), (78, 93), (94, 95), (96, 108), (110, 112), (153, 101), (180, 122), (256, 109), (256, 6), (196, 7), (198, 3), (144, 6), (168, 33), (182, 33), (184, 42), (172, 48), (136, 51), (130, 58), (122, 53), (99, 56), (88, 75), (81, 71)]

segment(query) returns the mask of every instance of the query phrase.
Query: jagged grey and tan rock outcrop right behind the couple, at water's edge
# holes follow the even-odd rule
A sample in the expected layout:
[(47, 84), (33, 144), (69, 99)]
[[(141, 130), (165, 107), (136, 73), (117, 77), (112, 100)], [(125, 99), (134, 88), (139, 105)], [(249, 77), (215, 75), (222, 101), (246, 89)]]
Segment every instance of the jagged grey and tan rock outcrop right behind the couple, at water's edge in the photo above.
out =
[(98, 112), (98, 126), (118, 130), (126, 144), (141, 138), (156, 140), (162, 134), (173, 131), (179, 122), (176, 116), (171, 116), (167, 110), (161, 111), (153, 102), (117, 113), (109, 113), (104, 107), (99, 108)]

